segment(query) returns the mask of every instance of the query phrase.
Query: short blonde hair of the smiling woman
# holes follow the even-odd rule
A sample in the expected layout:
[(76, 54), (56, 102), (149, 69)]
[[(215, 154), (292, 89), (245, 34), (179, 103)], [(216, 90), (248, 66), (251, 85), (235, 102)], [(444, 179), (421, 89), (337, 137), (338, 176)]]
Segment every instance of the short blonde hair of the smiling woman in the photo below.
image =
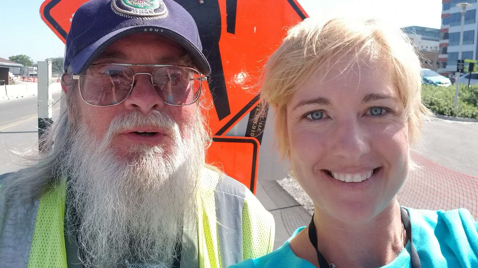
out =
[[(408, 123), (410, 143), (420, 136), (424, 117), (430, 111), (421, 102), (420, 60), (410, 39), (400, 29), (375, 19), (305, 19), (292, 27), (273, 53), (261, 75), (262, 113), (276, 110), (275, 133), (282, 157), (289, 156), (287, 103), (308, 78), (325, 77), (337, 62), (347, 69), (366, 57), (391, 74)], [(320, 87), (320, 82), (319, 82)]]

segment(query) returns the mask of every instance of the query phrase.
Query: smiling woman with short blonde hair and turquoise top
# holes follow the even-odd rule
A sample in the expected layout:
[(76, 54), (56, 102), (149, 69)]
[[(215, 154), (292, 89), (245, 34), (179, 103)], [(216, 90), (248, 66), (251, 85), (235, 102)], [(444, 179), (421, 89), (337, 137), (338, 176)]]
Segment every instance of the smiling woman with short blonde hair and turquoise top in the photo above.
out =
[(261, 97), (315, 213), (276, 251), (233, 267), (477, 268), (478, 224), (466, 209), (396, 199), (430, 115), (420, 90), (419, 59), (399, 29), (343, 18), (293, 27), (266, 65)]

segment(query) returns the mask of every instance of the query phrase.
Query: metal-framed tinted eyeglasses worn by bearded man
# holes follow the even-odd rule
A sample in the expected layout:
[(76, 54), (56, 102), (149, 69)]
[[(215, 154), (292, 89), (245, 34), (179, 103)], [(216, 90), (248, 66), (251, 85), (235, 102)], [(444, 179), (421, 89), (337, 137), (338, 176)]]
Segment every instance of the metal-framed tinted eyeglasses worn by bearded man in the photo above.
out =
[[(156, 67), (150, 72), (134, 72), (130, 66)], [(81, 98), (93, 106), (113, 106), (122, 103), (132, 92), (136, 75), (151, 76), (151, 84), (163, 102), (173, 106), (195, 103), (206, 81), (198, 70), (169, 64), (96, 63), (84, 74), (73, 75), (78, 80)]]

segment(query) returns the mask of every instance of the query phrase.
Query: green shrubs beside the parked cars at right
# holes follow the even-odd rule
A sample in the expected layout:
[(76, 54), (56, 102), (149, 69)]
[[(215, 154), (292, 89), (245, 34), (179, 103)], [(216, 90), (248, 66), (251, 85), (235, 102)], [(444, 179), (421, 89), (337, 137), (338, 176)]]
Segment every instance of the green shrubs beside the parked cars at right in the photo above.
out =
[(422, 101), (434, 113), (478, 119), (478, 85), (468, 88), (468, 85), (460, 84), (455, 114), (453, 113), (455, 85), (448, 87), (423, 85)]

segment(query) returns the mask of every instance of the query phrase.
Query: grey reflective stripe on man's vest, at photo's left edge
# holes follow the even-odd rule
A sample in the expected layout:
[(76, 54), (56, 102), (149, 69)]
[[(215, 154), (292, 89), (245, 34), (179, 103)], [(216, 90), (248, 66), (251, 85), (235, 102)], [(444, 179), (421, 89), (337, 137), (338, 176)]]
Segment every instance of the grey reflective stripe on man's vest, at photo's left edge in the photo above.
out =
[[(4, 174), (5, 175), (5, 174)], [(4, 177), (0, 178), (0, 184)], [(0, 207), (0, 267), (26, 268), (30, 257), (38, 202)]]

